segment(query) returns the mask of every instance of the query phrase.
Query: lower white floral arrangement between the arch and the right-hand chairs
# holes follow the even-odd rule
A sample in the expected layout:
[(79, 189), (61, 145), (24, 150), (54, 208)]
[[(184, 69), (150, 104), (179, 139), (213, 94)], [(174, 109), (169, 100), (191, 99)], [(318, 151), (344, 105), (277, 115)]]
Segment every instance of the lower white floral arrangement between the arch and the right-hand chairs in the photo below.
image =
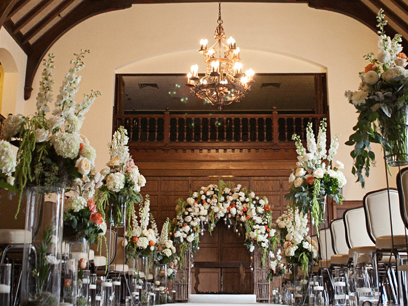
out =
[(308, 218), (297, 207), (288, 209), (276, 219), (280, 232), (283, 256), (287, 264), (300, 264), (304, 275), (309, 263), (318, 259), (318, 245), (309, 236)]

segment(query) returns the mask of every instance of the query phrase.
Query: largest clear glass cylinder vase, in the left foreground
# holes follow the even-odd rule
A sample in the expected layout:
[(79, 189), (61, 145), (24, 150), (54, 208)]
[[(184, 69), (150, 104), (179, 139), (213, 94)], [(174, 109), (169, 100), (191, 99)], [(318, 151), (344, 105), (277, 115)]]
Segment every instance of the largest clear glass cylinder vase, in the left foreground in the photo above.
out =
[(64, 190), (45, 196), (41, 187), (28, 187), (25, 215), (21, 305), (58, 306), (61, 292)]

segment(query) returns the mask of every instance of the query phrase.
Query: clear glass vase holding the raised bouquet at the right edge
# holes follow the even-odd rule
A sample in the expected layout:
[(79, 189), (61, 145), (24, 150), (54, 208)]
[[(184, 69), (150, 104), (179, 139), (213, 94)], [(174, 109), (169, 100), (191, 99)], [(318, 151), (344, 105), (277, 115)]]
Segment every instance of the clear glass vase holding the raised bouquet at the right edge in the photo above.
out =
[(387, 164), (408, 165), (408, 107), (392, 109), (390, 117), (379, 118), (379, 122)]

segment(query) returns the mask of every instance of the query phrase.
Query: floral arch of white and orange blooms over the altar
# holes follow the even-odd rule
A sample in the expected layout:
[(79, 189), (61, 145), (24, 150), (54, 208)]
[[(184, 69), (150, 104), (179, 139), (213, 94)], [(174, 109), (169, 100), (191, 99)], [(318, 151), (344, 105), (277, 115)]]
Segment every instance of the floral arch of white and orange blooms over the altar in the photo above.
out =
[(272, 227), (271, 207), (265, 196), (259, 197), (241, 187), (219, 181), (201, 187), (186, 200), (177, 201), (173, 235), (182, 252), (191, 248), (194, 253), (205, 227), (211, 234), (217, 222), (223, 219), (228, 228), (233, 227), (243, 235), (250, 252), (256, 248), (262, 252), (262, 263), (265, 263), (268, 252), (273, 251), (278, 242)]

